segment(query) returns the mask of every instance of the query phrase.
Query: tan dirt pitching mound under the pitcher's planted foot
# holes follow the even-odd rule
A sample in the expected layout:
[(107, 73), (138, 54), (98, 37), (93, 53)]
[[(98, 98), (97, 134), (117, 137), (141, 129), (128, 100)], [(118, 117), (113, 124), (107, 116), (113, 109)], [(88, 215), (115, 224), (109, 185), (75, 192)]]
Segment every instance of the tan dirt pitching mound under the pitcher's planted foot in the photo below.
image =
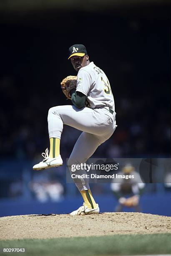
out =
[(0, 240), (171, 233), (171, 217), (138, 212), (20, 215), (0, 218)]

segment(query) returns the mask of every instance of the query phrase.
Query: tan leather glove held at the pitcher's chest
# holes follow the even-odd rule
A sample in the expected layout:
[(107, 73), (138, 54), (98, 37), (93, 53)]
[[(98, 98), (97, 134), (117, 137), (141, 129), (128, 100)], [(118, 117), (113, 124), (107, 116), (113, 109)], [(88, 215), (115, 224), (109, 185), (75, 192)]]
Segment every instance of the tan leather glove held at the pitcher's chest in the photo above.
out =
[(77, 77), (76, 76), (68, 76), (65, 77), (60, 83), (63, 93), (67, 97), (67, 99), (71, 99), (70, 90), (76, 89), (77, 85)]

